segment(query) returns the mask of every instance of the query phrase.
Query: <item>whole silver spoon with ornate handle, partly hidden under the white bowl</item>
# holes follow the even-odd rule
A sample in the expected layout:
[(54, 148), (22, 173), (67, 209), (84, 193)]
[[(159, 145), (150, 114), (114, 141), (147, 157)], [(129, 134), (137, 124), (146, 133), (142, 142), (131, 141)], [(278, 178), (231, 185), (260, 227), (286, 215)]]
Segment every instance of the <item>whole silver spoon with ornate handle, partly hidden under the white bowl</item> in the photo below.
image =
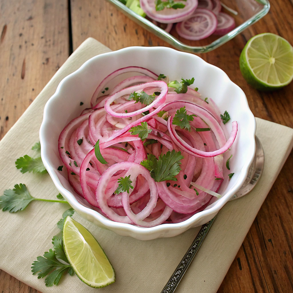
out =
[[(258, 137), (255, 137), (255, 143), (256, 143), (255, 157), (253, 159), (253, 162), (251, 163), (251, 166), (249, 167), (247, 178), (245, 182), (243, 183), (243, 185), (241, 186), (241, 189), (235, 195), (233, 195), (230, 198), (230, 200), (234, 200), (236, 198), (242, 197), (243, 195), (246, 195), (247, 193), (249, 193), (255, 187), (256, 183), (260, 179), (261, 174), (263, 173), (265, 155), (263, 152), (263, 147)], [(165, 285), (161, 293), (173, 293), (176, 290), (176, 287), (178, 286), (183, 275), (187, 271), (190, 263), (192, 262), (195, 254), (197, 253), (198, 248), (200, 248), (215, 218), (216, 216), (212, 218), (206, 224), (202, 225), (200, 231), (195, 237), (190, 248), (183, 256), (182, 260), (180, 261), (179, 265), (177, 266), (176, 270), (174, 271), (173, 275), (171, 276), (171, 278), (169, 279), (169, 281), (167, 282), (167, 284)]]

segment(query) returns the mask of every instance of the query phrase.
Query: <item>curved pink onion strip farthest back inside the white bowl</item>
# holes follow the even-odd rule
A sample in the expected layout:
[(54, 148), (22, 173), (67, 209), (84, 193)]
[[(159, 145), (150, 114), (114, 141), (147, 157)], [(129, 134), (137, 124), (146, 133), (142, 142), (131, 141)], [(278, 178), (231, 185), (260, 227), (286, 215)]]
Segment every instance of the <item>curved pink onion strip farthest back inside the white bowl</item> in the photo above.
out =
[(120, 74), (123, 74), (123, 73), (126, 73), (126, 72), (138, 72), (138, 73), (142, 73), (142, 74), (145, 74), (147, 76), (150, 76), (153, 79), (157, 79), (158, 78), (158, 76), (154, 72), (152, 72), (152, 71), (150, 71), (150, 70), (148, 70), (146, 68), (143, 68), (143, 67), (129, 66), (129, 67), (124, 67), (124, 68), (117, 69), (117, 70), (113, 71), (112, 73), (110, 73), (108, 76), (106, 76), (101, 81), (101, 83), (98, 85), (96, 91), (94, 92), (94, 94), (93, 94), (93, 96), (91, 98), (91, 105), (92, 105), (92, 107), (97, 104), (97, 102), (96, 102), (97, 101), (97, 98), (103, 95), (102, 91), (108, 85), (108, 83), (113, 78), (115, 78), (116, 76), (118, 76)]

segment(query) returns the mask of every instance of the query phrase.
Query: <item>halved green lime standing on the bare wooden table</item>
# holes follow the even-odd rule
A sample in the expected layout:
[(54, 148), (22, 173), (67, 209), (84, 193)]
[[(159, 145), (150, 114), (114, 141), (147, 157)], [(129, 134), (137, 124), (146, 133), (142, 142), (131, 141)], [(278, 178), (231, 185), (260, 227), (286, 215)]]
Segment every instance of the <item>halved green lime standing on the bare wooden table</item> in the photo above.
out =
[(256, 35), (242, 50), (239, 64), (248, 84), (258, 90), (276, 90), (293, 79), (293, 47), (272, 33)]

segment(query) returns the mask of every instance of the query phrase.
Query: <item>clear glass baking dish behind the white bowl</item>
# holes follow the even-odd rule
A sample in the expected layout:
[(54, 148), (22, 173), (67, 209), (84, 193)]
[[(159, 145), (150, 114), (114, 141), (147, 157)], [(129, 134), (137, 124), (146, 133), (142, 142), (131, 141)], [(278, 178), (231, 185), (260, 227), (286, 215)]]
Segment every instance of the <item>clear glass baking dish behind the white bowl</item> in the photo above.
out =
[(144, 18), (129, 9), (120, 1), (108, 1), (113, 3), (120, 11), (122, 11), (122, 13), (124, 13), (130, 19), (132, 19), (151, 33), (155, 34), (162, 40), (168, 42), (176, 49), (191, 53), (205, 53), (216, 49), (217, 47), (234, 38), (236, 35), (243, 32), (243, 30), (260, 20), (260, 18), (263, 18), (270, 10), (270, 2), (268, 0), (224, 0), (222, 1), (224, 5), (238, 12), (238, 15), (234, 15), (227, 11), (225, 8), (222, 8), (222, 11), (234, 17), (236, 22), (236, 28), (221, 37), (211, 35), (210, 37), (203, 40), (190, 41), (178, 36), (175, 30), (175, 25), (173, 25), (171, 32), (167, 33), (166, 31), (149, 21), (147, 18)]

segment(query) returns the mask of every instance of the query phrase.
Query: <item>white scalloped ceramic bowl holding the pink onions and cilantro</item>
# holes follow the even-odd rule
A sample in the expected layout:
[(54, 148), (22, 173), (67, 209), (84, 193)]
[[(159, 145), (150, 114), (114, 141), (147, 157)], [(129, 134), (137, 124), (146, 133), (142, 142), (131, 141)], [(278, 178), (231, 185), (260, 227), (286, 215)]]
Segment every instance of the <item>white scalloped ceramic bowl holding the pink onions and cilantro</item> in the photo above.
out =
[[(222, 198), (202, 212), (178, 224), (162, 224), (153, 228), (142, 228), (130, 224), (113, 222), (98, 211), (82, 205), (67, 180), (65, 172), (57, 171), (63, 165), (58, 152), (58, 137), (62, 129), (84, 108), (90, 107), (91, 97), (102, 79), (111, 72), (127, 66), (145, 67), (156, 74), (168, 75), (170, 80), (195, 78), (194, 86), (199, 88), (202, 97), (212, 98), (222, 113), (227, 110), (231, 121), (238, 122), (238, 133), (231, 147), (233, 159), (230, 171), (224, 168), (224, 176), (234, 173), (219, 193)], [(111, 85), (110, 85), (111, 86)], [(84, 102), (80, 106), (80, 102)], [(226, 137), (231, 132), (231, 122), (223, 126)], [(256, 123), (248, 107), (244, 92), (234, 84), (227, 74), (218, 67), (205, 62), (200, 57), (179, 52), (167, 47), (128, 47), (118, 51), (100, 54), (89, 59), (78, 70), (65, 77), (56, 93), (48, 100), (40, 128), (41, 156), (59, 192), (66, 198), (78, 214), (99, 227), (112, 230), (117, 234), (136, 239), (150, 240), (159, 237), (176, 236), (192, 227), (200, 226), (211, 220), (225, 203), (241, 188), (246, 179), (248, 168), (255, 154)], [(224, 162), (228, 154), (224, 154)], [(66, 170), (66, 169), (65, 169)], [(79, 200), (79, 201), (78, 201)]]

